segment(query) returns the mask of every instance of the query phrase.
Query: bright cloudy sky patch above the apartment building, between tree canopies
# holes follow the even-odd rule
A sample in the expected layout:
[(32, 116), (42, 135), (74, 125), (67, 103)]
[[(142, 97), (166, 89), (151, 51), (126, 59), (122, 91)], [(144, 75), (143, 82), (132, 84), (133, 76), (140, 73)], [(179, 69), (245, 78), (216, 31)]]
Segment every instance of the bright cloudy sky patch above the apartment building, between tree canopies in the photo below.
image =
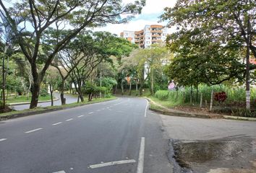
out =
[[(124, 4), (133, 2), (134, 0), (123, 0)], [(146, 6), (143, 7), (142, 13), (137, 14), (132, 21), (127, 24), (108, 24), (106, 27), (95, 28), (95, 31), (108, 31), (116, 35), (120, 35), (124, 30), (142, 30), (145, 25), (166, 25), (166, 23), (158, 23), (159, 16), (163, 14), (163, 9), (168, 6), (174, 6), (176, 0), (146, 0)], [(171, 31), (169, 31), (171, 32)]]

